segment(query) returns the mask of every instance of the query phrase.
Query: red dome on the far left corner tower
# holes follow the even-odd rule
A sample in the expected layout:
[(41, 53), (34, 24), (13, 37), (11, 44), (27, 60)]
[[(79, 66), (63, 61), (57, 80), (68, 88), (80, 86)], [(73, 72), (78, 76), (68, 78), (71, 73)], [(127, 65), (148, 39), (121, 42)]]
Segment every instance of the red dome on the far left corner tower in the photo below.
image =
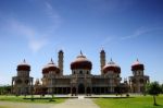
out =
[(17, 71), (30, 71), (30, 65), (26, 63), (25, 59), (17, 65)]

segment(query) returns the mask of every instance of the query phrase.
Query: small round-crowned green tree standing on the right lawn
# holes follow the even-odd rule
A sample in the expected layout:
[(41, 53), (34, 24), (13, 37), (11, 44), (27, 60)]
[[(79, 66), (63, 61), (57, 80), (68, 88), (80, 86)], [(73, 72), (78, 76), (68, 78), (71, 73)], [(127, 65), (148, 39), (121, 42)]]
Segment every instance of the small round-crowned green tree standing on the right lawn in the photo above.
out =
[(153, 105), (156, 106), (156, 99), (155, 96), (158, 96), (161, 93), (161, 86), (159, 85), (158, 82), (152, 82), (147, 84), (146, 91), (148, 94), (153, 96)]

